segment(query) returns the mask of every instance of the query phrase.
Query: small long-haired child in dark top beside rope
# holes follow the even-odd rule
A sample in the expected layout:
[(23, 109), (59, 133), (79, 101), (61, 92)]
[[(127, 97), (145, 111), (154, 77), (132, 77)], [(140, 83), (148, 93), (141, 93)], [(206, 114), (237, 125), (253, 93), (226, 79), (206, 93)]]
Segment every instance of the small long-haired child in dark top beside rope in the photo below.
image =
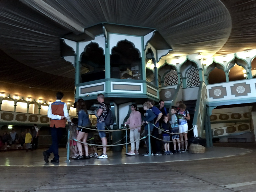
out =
[[(168, 123), (168, 116), (164, 116), (163, 117), (163, 123), (161, 125), (161, 129), (163, 131), (167, 131), (167, 132), (171, 132), (171, 129), (170, 129), (170, 125)], [(169, 133), (166, 133), (166, 132), (162, 132), (162, 135), (163, 135), (163, 140), (164, 140), (164, 149), (165, 149), (165, 152), (164, 154), (165, 155), (170, 155), (170, 154), (173, 154), (171, 151), (170, 151), (170, 134)]]

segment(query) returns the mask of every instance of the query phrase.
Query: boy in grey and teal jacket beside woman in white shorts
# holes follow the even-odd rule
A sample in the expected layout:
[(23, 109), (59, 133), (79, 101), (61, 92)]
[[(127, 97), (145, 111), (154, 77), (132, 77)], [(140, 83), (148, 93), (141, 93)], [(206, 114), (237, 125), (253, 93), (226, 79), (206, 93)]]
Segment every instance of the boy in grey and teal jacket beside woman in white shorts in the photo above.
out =
[[(179, 126), (178, 126), (178, 118), (176, 116), (176, 113), (177, 112), (177, 109), (176, 108), (172, 108), (171, 109), (171, 114), (172, 114), (172, 117), (171, 117), (171, 120), (169, 121), (169, 123), (171, 124), (171, 127), (172, 127), (172, 132), (173, 133), (176, 133), (176, 134), (173, 134), (172, 135), (172, 140), (173, 140), (173, 146), (174, 146), (174, 151), (173, 153), (181, 153), (181, 150), (180, 150), (180, 141), (179, 141)], [(178, 151), (176, 151), (176, 144), (178, 142)]]

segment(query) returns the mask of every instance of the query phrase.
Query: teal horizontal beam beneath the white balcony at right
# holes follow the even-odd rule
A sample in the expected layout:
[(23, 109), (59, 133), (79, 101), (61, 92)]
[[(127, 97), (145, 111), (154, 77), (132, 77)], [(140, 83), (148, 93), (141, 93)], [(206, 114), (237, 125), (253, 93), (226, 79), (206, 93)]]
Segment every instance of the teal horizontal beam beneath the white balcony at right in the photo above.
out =
[(222, 105), (233, 105), (233, 104), (241, 104), (241, 103), (255, 103), (256, 97), (251, 98), (238, 98), (231, 100), (222, 100), (222, 101), (211, 101), (207, 102), (208, 106), (222, 106)]

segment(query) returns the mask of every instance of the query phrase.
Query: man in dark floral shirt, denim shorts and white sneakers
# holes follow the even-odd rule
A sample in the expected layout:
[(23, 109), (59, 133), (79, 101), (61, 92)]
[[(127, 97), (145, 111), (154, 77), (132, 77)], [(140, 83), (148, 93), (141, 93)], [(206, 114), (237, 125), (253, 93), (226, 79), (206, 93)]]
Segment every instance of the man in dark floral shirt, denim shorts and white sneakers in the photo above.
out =
[[(106, 103), (104, 103), (104, 95), (102, 93), (97, 95), (97, 101), (100, 103), (99, 109), (96, 113), (97, 115), (97, 129), (98, 130), (105, 130), (105, 118), (107, 116), (108, 106)], [(102, 141), (102, 145), (107, 145), (107, 138), (106, 138), (106, 132), (99, 131), (99, 136)], [(98, 159), (106, 159), (108, 158), (107, 155), (107, 147), (103, 146), (103, 153), (97, 157)]]

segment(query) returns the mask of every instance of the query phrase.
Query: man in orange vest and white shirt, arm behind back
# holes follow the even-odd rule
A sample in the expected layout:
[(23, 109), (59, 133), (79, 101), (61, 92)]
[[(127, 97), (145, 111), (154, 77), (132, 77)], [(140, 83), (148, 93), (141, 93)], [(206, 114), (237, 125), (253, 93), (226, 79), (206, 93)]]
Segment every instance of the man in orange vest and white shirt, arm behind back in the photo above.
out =
[(51, 138), (52, 144), (50, 148), (43, 152), (44, 160), (46, 163), (49, 163), (49, 156), (51, 153), (54, 154), (54, 158), (51, 160), (51, 163), (59, 163), (59, 142), (62, 137), (62, 130), (66, 126), (66, 120), (71, 122), (67, 104), (62, 102), (63, 97), (62, 92), (56, 93), (56, 101), (49, 105), (47, 116), (50, 120), (51, 128)]

